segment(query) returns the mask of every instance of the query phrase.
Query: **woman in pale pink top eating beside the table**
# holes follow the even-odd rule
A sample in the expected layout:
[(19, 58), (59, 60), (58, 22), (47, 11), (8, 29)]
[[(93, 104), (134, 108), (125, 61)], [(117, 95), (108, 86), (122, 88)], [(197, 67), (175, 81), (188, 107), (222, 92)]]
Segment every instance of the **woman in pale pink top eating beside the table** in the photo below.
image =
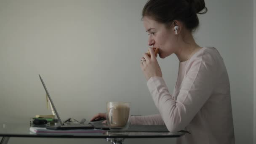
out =
[[(162, 125), (169, 131), (189, 131), (178, 144), (234, 144), (229, 77), (224, 61), (211, 47), (200, 47), (192, 32), (198, 27), (197, 13), (207, 12), (204, 0), (149, 0), (142, 20), (149, 33), (149, 46), (159, 48), (164, 59), (176, 54), (179, 74), (169, 93), (160, 66), (149, 48), (141, 69), (160, 114), (133, 116), (131, 124)], [(93, 117), (105, 117), (101, 113)], [(92, 119), (92, 120), (93, 120)]]

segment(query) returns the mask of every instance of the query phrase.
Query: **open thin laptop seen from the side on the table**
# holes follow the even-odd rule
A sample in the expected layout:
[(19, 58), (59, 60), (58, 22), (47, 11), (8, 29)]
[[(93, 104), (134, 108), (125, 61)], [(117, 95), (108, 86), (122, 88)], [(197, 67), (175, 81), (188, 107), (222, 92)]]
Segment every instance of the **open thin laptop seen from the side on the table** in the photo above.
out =
[(43, 84), (43, 88), (45, 89), (45, 92), (48, 96), (48, 99), (51, 102), (51, 105), (53, 107), (53, 111), (55, 112), (55, 114), (57, 115), (57, 118), (59, 120), (59, 124), (58, 125), (47, 125), (46, 128), (47, 129), (52, 129), (52, 130), (71, 130), (71, 129), (94, 129), (94, 126), (89, 124), (89, 123), (63, 123), (61, 118), (59, 117), (59, 114), (56, 110), (56, 107), (53, 104), (53, 101), (51, 99), (51, 96), (45, 86), (45, 83), (43, 82), (42, 77), (39, 75), (40, 80)]

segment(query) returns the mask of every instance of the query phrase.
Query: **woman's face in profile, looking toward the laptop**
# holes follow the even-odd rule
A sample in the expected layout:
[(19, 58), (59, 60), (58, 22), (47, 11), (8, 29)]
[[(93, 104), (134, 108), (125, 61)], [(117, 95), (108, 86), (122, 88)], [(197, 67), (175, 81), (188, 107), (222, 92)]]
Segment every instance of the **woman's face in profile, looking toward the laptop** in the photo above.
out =
[(176, 49), (176, 37), (173, 24), (167, 28), (165, 24), (160, 24), (147, 16), (143, 18), (143, 24), (146, 32), (149, 34), (148, 45), (159, 48), (160, 58), (163, 59), (174, 53)]

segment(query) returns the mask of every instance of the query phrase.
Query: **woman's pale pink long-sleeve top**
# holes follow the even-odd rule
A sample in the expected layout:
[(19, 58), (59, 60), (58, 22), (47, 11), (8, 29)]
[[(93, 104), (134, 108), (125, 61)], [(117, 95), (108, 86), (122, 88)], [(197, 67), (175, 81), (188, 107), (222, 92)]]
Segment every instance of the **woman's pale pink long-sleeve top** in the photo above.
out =
[(131, 124), (165, 124), (171, 132), (191, 133), (177, 144), (235, 144), (229, 77), (215, 48), (201, 48), (180, 62), (173, 94), (162, 77), (151, 77), (147, 86), (160, 114), (132, 116)]

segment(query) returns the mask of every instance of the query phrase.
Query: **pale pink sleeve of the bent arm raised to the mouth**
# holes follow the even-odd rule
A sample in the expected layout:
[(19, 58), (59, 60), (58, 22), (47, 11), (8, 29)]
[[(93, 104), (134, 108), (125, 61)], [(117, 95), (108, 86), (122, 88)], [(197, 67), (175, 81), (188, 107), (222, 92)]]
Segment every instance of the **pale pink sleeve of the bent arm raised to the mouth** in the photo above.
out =
[[(188, 63), (189, 64), (189, 63)], [(151, 77), (147, 86), (169, 131), (185, 128), (210, 97), (216, 84), (218, 64), (209, 53), (191, 59), (176, 101), (162, 77)]]

